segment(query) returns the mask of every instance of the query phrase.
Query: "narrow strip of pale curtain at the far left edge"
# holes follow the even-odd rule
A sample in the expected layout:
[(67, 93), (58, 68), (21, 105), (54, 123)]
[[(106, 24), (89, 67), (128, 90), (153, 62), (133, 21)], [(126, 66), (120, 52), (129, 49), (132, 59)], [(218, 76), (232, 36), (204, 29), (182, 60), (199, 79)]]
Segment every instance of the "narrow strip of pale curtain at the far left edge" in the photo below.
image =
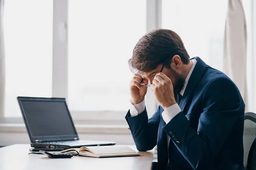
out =
[(3, 5), (4, 0), (0, 0), (0, 117), (4, 112), (5, 96), (5, 59), (4, 59), (4, 39), (3, 39)]

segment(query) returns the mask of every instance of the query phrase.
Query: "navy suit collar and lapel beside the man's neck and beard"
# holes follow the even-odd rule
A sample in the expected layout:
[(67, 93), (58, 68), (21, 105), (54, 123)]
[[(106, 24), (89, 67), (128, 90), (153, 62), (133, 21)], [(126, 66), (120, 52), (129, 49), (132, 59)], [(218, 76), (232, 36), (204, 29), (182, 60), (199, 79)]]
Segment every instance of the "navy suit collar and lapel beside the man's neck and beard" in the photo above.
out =
[(199, 57), (194, 57), (192, 59), (197, 59), (197, 63), (195, 65), (195, 68), (189, 78), (188, 84), (186, 86), (186, 90), (183, 94), (183, 97), (180, 101), (180, 108), (183, 111), (183, 109), (186, 106), (186, 103), (189, 99), (189, 97), (191, 96), (192, 92), (194, 91), (196, 85), (198, 84), (198, 82), (200, 82), (202, 75), (204, 74), (204, 70), (206, 67), (205, 62), (200, 59)]

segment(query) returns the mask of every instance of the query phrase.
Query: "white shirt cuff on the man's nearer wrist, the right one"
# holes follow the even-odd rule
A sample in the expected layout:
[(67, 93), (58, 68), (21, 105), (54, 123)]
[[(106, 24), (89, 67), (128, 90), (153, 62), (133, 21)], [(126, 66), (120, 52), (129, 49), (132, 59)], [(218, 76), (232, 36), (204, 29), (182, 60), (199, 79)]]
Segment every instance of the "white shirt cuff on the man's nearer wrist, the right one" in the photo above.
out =
[(178, 113), (181, 112), (180, 106), (176, 103), (163, 111), (162, 117), (164, 122), (169, 123)]

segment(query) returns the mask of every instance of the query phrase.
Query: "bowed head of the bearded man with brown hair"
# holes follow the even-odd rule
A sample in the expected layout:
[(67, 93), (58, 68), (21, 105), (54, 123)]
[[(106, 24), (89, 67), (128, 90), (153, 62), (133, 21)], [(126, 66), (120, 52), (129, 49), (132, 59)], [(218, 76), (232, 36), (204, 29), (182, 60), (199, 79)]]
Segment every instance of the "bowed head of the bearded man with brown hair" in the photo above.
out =
[(128, 63), (131, 71), (141, 75), (148, 84), (164, 64), (162, 72), (172, 80), (174, 92), (179, 93), (188, 74), (189, 54), (174, 31), (155, 29), (140, 38)]

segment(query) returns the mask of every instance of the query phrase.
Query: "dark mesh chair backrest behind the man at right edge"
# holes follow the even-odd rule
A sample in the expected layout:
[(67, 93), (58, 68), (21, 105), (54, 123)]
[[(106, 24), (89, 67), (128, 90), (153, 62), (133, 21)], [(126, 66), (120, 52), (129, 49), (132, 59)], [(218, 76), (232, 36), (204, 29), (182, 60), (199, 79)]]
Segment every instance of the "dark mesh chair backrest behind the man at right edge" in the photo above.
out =
[(253, 157), (256, 156), (256, 114), (244, 113), (244, 168), (250, 170)]

